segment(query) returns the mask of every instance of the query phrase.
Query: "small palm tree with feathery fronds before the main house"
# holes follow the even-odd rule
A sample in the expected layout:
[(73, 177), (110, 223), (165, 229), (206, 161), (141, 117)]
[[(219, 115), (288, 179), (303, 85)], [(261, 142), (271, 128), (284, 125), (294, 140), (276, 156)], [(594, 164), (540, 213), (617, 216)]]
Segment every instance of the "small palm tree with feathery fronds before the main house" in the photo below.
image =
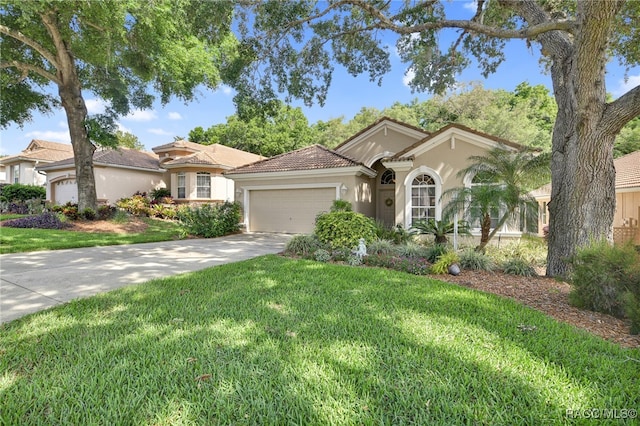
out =
[[(451, 199), (444, 213), (463, 211), (468, 217), (480, 219), (480, 245), (476, 250), (483, 251), (508, 219), (522, 213), (527, 222), (536, 220), (538, 203), (529, 193), (548, 182), (549, 154), (497, 147), (486, 155), (471, 156), (469, 161), (458, 176), (473, 176), (475, 184), (445, 191), (442, 197)], [(491, 214), (495, 212), (499, 213), (492, 230)]]

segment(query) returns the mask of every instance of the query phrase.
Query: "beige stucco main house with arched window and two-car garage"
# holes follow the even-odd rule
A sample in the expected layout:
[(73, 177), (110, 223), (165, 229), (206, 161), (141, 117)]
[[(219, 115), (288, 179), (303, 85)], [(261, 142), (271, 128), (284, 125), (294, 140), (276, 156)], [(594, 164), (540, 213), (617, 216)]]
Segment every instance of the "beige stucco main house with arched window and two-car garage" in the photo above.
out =
[[(381, 118), (330, 150), (313, 145), (225, 173), (243, 192), (247, 231), (310, 233), (336, 199), (354, 211), (406, 228), (440, 219), (441, 194), (472, 185), (460, 178), (472, 155), (519, 145), (451, 124), (435, 133)], [(503, 229), (499, 235), (520, 235)]]

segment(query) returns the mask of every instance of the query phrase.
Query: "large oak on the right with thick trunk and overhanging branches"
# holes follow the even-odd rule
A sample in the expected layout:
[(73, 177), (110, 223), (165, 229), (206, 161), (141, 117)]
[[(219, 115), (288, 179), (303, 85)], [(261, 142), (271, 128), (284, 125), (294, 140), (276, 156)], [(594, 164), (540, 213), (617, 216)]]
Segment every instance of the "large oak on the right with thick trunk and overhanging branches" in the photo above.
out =
[[(508, 40), (525, 40), (547, 62), (558, 104), (547, 274), (565, 274), (565, 259), (590, 239), (611, 240), (613, 144), (640, 115), (640, 87), (607, 102), (605, 70), (614, 58), (638, 64), (640, 2), (477, 0), (471, 19), (450, 18), (445, 2), (436, 0), (242, 5), (243, 55), (227, 75), (240, 114), (255, 113), (261, 100), (280, 93), (322, 103), (336, 64), (380, 81), (390, 69), (390, 33), (399, 36), (396, 48), (415, 74), (413, 87), (436, 93), (456, 83), (471, 57), (488, 75), (505, 59)], [(452, 41), (443, 46), (446, 32)]]

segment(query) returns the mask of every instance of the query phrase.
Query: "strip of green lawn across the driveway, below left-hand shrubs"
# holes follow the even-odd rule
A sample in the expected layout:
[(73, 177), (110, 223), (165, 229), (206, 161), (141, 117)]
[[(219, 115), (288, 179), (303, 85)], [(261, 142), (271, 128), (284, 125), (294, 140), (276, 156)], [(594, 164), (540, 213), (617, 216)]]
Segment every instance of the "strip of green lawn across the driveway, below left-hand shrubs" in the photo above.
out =
[(152, 243), (179, 238), (180, 227), (177, 223), (155, 219), (144, 220), (149, 226), (144, 232), (135, 234), (2, 227), (0, 228), (0, 253)]

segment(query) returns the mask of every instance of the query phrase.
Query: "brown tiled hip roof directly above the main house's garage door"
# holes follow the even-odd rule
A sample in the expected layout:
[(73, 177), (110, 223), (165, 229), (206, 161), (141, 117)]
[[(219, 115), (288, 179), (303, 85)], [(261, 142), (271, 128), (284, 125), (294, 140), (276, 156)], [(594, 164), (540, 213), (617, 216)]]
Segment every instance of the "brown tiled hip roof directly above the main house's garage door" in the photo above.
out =
[(362, 163), (345, 155), (338, 154), (322, 145), (311, 145), (243, 167), (238, 167), (227, 172), (227, 174), (290, 172), (354, 166), (364, 167)]

